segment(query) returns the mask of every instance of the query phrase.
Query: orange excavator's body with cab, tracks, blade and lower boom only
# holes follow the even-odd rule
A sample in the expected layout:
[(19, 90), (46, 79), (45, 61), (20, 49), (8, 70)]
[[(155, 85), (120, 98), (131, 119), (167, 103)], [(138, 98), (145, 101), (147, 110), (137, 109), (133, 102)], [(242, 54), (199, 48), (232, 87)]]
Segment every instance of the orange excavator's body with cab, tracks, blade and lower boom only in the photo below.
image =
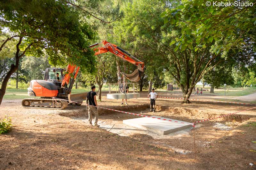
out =
[[(67, 74), (63, 75), (63, 71), (67, 71)], [(64, 109), (68, 104), (80, 106), (83, 100), (86, 100), (87, 93), (71, 94), (78, 71), (79, 67), (72, 64), (68, 65), (67, 70), (47, 68), (44, 73), (44, 80), (32, 80), (28, 88), (29, 96), (41, 98), (23, 99), (21, 102), (22, 106), (51, 109)], [(54, 99), (53, 102), (52, 97), (59, 99)], [(75, 102), (68, 102), (66, 100)]]

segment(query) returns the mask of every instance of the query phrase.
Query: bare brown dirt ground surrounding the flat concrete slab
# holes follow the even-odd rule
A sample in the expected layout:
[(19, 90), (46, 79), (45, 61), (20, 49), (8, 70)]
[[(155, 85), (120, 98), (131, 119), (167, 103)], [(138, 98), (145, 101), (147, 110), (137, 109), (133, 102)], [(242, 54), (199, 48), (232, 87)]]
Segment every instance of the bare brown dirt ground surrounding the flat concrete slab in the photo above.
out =
[[(157, 115), (186, 122), (215, 117), (251, 108), (238, 104), (157, 99), (156, 113), (148, 112), (147, 93), (129, 99), (106, 99), (99, 106), (145, 115)], [(182, 97), (168, 93), (159, 96)], [(214, 96), (191, 96), (219, 99)], [(225, 97), (223, 97), (225, 98)], [(230, 98), (228, 98), (230, 99)], [(125, 119), (138, 118), (99, 109), (95, 128), (86, 121), (85, 106), (65, 110), (23, 108), (21, 100), (5, 100), (0, 117), (11, 116), (12, 131), (0, 135), (0, 169), (255, 169), (255, 109), (215, 121), (199, 123), (193, 129), (167, 136), (146, 133), (122, 125)], [(244, 102), (244, 101), (243, 101)], [(254, 102), (254, 101), (251, 101)], [(256, 104), (256, 101), (254, 102)], [(221, 130), (218, 123), (231, 128)], [(115, 124), (115, 125), (114, 125)], [(111, 127), (113, 128), (111, 129)], [(110, 131), (108, 131), (110, 130)], [(131, 130), (130, 132), (128, 132)], [(128, 133), (127, 133), (128, 132)], [(181, 152), (180, 152), (181, 151)], [(253, 163), (254, 165), (249, 165)]]

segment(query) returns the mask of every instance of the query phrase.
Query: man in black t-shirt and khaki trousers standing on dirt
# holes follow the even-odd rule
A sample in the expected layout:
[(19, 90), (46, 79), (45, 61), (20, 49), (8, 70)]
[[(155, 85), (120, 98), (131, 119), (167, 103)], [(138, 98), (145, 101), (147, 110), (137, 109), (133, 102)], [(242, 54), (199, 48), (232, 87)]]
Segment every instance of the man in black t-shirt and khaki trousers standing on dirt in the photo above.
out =
[[(96, 100), (96, 92), (95, 92), (95, 85), (93, 85), (91, 87), (92, 91), (87, 93), (87, 98), (86, 98), (86, 105), (87, 105), (87, 109), (88, 109), (88, 115), (89, 115), (89, 123), (92, 125), (92, 115), (94, 115), (94, 123), (93, 126), (97, 126), (100, 127), (100, 125), (97, 124), (98, 122), (98, 118), (99, 118), (99, 113), (98, 113), (98, 109), (95, 106), (97, 105), (97, 100)], [(89, 100), (89, 105), (88, 105), (88, 100)]]

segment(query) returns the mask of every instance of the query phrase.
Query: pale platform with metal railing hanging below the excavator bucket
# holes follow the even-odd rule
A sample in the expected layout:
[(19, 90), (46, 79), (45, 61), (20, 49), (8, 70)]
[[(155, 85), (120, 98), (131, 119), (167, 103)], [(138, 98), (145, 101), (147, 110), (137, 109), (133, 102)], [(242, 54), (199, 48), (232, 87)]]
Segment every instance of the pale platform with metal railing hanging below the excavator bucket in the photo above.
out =
[[(120, 80), (118, 82), (120, 82)], [(138, 83), (125, 82), (125, 75), (123, 76), (123, 83), (118, 82), (108, 85), (109, 93), (107, 94), (107, 99), (134, 99), (140, 97), (140, 93), (138, 93)], [(111, 88), (111, 86), (113, 87)], [(120, 88), (121, 86), (123, 86), (123, 89)], [(126, 88), (127, 86), (129, 87), (128, 89)], [(116, 90), (113, 93), (114, 88), (116, 88)], [(130, 90), (132, 92), (129, 93)]]

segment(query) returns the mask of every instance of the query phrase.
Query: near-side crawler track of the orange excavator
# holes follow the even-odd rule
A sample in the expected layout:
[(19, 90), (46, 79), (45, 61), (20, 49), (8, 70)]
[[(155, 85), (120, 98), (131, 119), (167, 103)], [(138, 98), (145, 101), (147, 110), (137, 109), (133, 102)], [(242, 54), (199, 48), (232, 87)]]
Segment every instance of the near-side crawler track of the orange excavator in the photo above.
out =
[(55, 109), (55, 110), (61, 110), (68, 107), (68, 102), (66, 100), (60, 100), (60, 99), (23, 99), (21, 101), (21, 104), (25, 108), (43, 108), (43, 109)]

